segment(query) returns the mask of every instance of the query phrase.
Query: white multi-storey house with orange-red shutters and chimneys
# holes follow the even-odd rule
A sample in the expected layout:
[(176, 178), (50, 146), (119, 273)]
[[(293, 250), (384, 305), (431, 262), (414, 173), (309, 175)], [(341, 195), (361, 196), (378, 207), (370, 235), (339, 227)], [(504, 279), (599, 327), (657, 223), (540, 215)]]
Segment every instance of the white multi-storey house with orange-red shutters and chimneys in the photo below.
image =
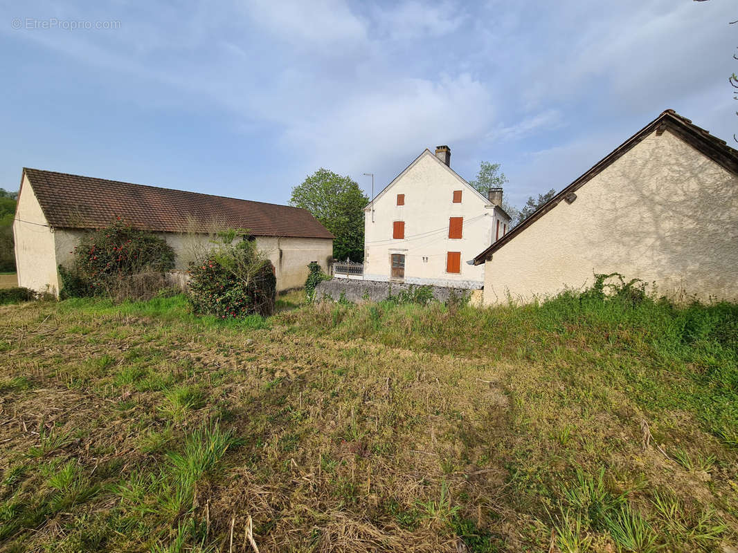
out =
[(365, 208), (364, 278), (478, 289), (474, 256), (503, 237), (502, 189), (487, 197), (449, 167), (451, 150), (424, 150)]

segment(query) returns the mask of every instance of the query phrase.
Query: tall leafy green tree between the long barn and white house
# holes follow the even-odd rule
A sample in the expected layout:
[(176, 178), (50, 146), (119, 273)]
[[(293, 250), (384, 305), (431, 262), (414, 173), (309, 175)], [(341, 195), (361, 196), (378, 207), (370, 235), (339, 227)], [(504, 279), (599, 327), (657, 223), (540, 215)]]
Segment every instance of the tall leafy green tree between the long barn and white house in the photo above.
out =
[(354, 179), (321, 167), (292, 189), (289, 204), (307, 209), (334, 234), (333, 257), (362, 261), (364, 207), (368, 202)]

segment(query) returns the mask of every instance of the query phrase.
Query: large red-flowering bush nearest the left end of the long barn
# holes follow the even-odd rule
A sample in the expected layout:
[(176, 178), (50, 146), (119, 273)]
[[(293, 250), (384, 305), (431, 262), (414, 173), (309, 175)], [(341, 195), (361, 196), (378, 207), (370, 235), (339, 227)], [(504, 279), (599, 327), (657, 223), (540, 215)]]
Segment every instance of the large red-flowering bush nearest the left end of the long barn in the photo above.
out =
[[(164, 273), (174, 267), (174, 251), (154, 232), (134, 229), (116, 220), (105, 229), (86, 234), (74, 250), (75, 263), (71, 269), (60, 268), (63, 284), (69, 290), (63, 296), (117, 296), (125, 288), (133, 293), (130, 283), (145, 281), (163, 285)], [(137, 276), (146, 275), (139, 279)], [(74, 283), (72, 285), (71, 283)]]

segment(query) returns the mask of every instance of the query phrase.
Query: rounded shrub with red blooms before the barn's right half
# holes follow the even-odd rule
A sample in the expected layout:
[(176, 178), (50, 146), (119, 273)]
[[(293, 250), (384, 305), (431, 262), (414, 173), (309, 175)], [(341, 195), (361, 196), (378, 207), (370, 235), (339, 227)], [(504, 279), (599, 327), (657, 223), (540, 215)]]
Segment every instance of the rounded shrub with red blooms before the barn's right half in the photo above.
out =
[(257, 250), (255, 242), (226, 241), (190, 263), (188, 299), (194, 313), (221, 319), (240, 319), (253, 313), (274, 312), (275, 269)]

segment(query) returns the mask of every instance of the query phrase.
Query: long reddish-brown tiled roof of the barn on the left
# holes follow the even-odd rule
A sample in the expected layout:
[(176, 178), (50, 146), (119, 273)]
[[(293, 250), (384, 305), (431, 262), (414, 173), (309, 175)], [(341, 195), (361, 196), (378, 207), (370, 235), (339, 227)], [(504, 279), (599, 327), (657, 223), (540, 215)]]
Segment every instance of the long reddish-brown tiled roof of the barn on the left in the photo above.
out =
[(120, 217), (160, 232), (248, 229), (255, 236), (333, 238), (307, 209), (24, 168), (51, 226), (98, 229)]

